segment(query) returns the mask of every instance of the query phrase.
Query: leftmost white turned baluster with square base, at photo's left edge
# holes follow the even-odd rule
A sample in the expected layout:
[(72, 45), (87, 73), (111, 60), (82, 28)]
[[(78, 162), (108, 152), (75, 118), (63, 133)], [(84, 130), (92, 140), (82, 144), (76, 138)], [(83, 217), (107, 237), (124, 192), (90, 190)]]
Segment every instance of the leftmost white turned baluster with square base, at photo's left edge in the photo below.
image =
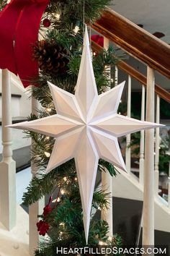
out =
[(12, 159), (11, 85), (7, 69), (2, 70), (2, 145), (0, 163), (0, 221), (11, 230), (16, 225), (16, 164)]

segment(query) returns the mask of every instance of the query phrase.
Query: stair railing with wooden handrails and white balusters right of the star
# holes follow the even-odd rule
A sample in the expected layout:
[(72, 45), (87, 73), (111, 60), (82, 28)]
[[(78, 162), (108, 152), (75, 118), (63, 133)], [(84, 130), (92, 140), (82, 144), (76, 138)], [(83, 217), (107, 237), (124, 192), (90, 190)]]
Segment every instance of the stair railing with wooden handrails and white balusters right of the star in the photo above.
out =
[[(121, 61), (115, 69), (115, 80), (117, 83), (117, 80), (119, 82), (119, 79), (121, 79), (119, 73), (128, 77), (126, 97), (128, 102), (127, 114), (129, 117), (131, 115), (132, 85), (133, 82), (138, 81), (139, 90), (142, 94), (141, 120), (145, 120), (146, 116), (147, 121), (159, 123), (160, 99), (163, 98), (167, 103), (170, 103), (170, 93), (155, 82), (157, 77), (157, 74), (155, 76), (155, 71), (161, 74), (161, 76), (166, 77), (166, 80), (170, 78), (170, 46), (111, 9), (107, 9), (102, 14), (101, 19), (97, 20), (91, 27), (104, 36), (104, 47), (107, 47), (109, 43), (114, 43), (127, 54), (138, 59), (138, 62), (141, 61), (142, 65), (146, 65), (147, 74), (143, 74), (125, 61)], [(103, 51), (103, 48), (94, 42), (92, 42), (92, 48), (94, 52)], [(169, 80), (167, 80), (167, 83), (169, 83)], [(156, 114), (154, 111), (155, 98)], [(146, 136), (147, 140), (145, 140)], [(170, 183), (166, 188), (169, 191), (169, 202), (159, 195), (159, 136), (159, 128), (156, 128), (155, 135), (151, 135), (149, 132), (146, 132), (145, 135), (145, 132), (140, 132), (138, 177), (132, 172), (130, 148), (126, 148), (125, 162), (128, 174), (119, 170), (120, 174), (117, 175), (116, 179), (113, 179), (112, 183), (112, 193), (113, 197), (116, 198), (116, 202), (117, 200), (121, 202), (123, 199), (143, 202), (143, 211), (141, 210), (143, 244), (154, 244), (154, 230), (155, 232), (165, 232), (170, 238)], [(126, 137), (126, 142), (127, 146), (130, 145), (130, 135)], [(109, 220), (112, 219), (109, 212), (107, 218)], [(115, 218), (113, 221), (116, 222)], [(113, 226), (115, 228), (114, 223)]]

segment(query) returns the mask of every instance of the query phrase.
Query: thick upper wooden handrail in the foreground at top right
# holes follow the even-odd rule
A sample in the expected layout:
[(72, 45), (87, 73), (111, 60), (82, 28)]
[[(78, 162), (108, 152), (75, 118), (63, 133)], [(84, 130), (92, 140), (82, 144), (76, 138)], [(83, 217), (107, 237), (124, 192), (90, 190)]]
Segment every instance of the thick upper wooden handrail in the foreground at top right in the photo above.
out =
[(91, 27), (170, 79), (170, 46), (167, 43), (111, 9), (106, 9)]

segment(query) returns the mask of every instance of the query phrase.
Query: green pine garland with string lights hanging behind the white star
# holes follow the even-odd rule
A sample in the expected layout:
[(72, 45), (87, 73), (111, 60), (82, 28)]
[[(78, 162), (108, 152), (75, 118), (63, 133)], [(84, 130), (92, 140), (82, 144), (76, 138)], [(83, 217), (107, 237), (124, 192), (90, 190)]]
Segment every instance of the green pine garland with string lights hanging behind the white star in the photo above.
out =
[[(84, 23), (91, 24), (102, 14), (110, 0), (51, 0), (42, 17), (40, 25), (40, 40), (32, 46), (32, 59), (37, 61), (40, 76), (32, 77), (30, 81), (35, 87), (32, 97), (40, 102), (41, 108), (37, 115), (28, 119), (39, 119), (56, 113), (53, 99), (47, 81), (59, 88), (75, 92), (81, 61)], [(91, 33), (91, 31), (90, 31)], [(112, 74), (115, 64), (120, 60), (114, 48), (109, 47), (100, 54), (94, 53), (93, 67), (98, 93), (114, 87)], [(109, 67), (109, 69), (108, 69)], [(113, 71), (113, 72), (112, 72)], [(76, 176), (76, 166), (73, 160), (44, 174), (54, 145), (54, 138), (35, 132), (26, 132), (33, 140), (32, 161), (37, 166), (35, 176), (24, 193), (24, 205), (31, 205), (44, 195), (49, 196), (48, 205), (37, 223), (37, 231), (47, 238), (41, 242), (36, 256), (54, 256), (56, 247), (84, 247), (83, 215), (79, 184)], [(109, 171), (116, 176), (116, 169), (110, 163), (100, 160), (98, 171)], [(109, 208), (107, 192), (95, 189), (91, 208), (91, 225), (88, 245), (99, 247), (105, 244), (112, 247), (120, 246), (119, 236), (108, 236), (109, 226), (106, 221), (95, 218), (97, 210)]]

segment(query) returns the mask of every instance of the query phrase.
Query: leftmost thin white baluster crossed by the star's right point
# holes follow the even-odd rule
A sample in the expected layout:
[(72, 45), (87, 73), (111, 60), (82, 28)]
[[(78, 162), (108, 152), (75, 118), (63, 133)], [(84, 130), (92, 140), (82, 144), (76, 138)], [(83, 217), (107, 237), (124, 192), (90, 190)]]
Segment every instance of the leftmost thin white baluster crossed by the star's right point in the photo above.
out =
[[(128, 114), (128, 117), (131, 116), (131, 83), (132, 83), (132, 80), (131, 80), (131, 77), (130, 75), (128, 76), (128, 111), (127, 111), (127, 114)], [(131, 149), (129, 147), (130, 145), (130, 135), (127, 135), (126, 136), (126, 168), (127, 168), (127, 171), (130, 173), (130, 168), (131, 168)]]

